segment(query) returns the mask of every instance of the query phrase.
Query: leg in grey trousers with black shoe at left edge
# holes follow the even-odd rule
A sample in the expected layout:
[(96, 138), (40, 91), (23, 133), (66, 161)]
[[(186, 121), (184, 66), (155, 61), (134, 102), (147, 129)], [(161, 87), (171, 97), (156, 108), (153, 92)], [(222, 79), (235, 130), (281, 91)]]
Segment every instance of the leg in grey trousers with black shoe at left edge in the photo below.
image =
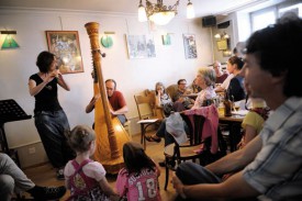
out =
[(15, 163), (0, 153), (0, 194), (2, 201), (10, 201), (14, 190), (29, 192), (35, 200), (56, 200), (61, 198), (66, 188), (40, 187), (31, 181)]

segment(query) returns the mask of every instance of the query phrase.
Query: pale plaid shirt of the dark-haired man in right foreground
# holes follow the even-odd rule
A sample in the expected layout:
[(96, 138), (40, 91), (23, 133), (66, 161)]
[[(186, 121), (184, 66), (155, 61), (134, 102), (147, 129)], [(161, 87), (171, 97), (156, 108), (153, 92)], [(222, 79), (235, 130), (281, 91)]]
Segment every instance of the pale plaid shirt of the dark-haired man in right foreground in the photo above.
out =
[(262, 148), (244, 169), (244, 179), (273, 201), (302, 200), (302, 98), (289, 98), (259, 135)]

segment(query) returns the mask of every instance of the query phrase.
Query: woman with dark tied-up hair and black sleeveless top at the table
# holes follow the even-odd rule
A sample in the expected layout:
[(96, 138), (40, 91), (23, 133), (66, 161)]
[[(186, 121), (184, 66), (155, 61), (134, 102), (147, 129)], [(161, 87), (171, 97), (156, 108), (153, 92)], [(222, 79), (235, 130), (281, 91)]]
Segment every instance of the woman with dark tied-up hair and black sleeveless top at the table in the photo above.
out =
[(242, 58), (233, 56), (230, 58), (228, 64), (234, 66), (234, 77), (231, 79), (227, 88), (228, 98), (233, 102), (243, 100), (246, 94), (244, 90), (244, 77), (239, 72), (244, 66), (244, 62)]

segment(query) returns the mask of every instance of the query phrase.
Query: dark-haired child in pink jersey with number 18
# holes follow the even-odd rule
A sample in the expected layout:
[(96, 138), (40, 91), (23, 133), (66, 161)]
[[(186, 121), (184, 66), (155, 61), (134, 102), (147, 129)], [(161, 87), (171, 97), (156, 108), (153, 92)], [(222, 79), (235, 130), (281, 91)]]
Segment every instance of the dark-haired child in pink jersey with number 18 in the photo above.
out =
[(159, 168), (146, 155), (138, 143), (128, 142), (123, 146), (125, 168), (121, 169), (116, 189), (127, 200), (160, 201), (158, 187)]

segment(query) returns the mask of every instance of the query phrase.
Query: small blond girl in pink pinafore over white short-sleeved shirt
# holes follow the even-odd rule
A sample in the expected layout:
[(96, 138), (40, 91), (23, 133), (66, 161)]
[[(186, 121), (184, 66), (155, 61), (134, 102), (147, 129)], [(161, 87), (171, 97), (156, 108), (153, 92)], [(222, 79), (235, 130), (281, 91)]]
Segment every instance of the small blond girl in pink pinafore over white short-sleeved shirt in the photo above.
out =
[(65, 167), (65, 183), (71, 191), (68, 200), (119, 200), (105, 179), (103, 166), (89, 157), (96, 150), (96, 134), (87, 125), (77, 125), (66, 133), (70, 147), (77, 153)]

